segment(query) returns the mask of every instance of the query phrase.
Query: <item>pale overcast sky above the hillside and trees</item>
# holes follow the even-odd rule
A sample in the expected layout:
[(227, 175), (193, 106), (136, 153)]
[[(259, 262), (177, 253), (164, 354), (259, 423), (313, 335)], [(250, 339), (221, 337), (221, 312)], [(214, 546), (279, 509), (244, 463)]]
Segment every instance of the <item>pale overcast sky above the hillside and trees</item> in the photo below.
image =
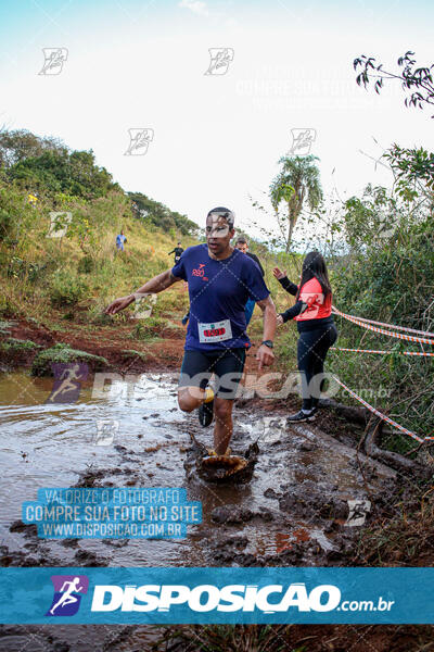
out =
[[(370, 156), (393, 142), (434, 149), (429, 110), (353, 70), (360, 54), (395, 70), (406, 50), (430, 65), (433, 24), (419, 0), (0, 0), (0, 124), (92, 149), (123, 188), (200, 224), (227, 205), (247, 226), (291, 129), (315, 131), (324, 192), (342, 198), (391, 183)], [(43, 48), (67, 50), (59, 74), (38, 74)], [(210, 48), (233, 59), (205, 74)], [(125, 155), (129, 129), (153, 130), (145, 154)]]

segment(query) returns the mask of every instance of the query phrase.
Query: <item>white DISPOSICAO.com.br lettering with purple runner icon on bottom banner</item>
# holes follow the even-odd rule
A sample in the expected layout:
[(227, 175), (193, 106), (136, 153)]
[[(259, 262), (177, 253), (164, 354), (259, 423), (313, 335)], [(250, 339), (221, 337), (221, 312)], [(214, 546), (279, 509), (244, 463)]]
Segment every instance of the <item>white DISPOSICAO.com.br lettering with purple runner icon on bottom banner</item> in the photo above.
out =
[[(74, 616), (81, 598), (88, 592), (89, 578), (86, 575), (53, 575), (51, 581), (54, 595), (46, 616)], [(193, 582), (194, 584), (194, 582)], [(316, 585), (307, 588), (305, 582), (277, 585), (95, 585), (91, 603), (85, 618), (95, 613), (154, 612), (171, 613), (177, 618), (187, 610), (191, 614), (214, 613), (218, 622), (227, 622), (226, 613), (327, 613), (342, 612), (391, 612), (394, 600), (378, 595), (371, 600), (342, 600), (335, 585)], [(219, 615), (218, 615), (219, 614)], [(215, 617), (214, 616), (214, 617)]]

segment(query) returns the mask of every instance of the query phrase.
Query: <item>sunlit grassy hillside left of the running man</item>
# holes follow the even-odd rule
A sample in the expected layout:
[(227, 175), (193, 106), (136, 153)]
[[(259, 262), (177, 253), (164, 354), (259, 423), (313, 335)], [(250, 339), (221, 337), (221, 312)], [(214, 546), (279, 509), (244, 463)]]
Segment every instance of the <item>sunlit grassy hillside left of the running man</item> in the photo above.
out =
[[(0, 181), (0, 211), (9, 217), (8, 233), (0, 241), (3, 317), (41, 321), (61, 313), (72, 313), (72, 318), (74, 313), (86, 313), (89, 322), (98, 321), (110, 300), (133, 291), (173, 264), (167, 253), (178, 234), (163, 233), (135, 217), (123, 192), (64, 200), (62, 210), (71, 212), (73, 220), (62, 238), (49, 235), (50, 212), (60, 209), (46, 197), (33, 205), (27, 190)], [(120, 229), (127, 237), (124, 252), (115, 248)], [(193, 237), (183, 236), (183, 247), (195, 243)], [(178, 297), (179, 288), (174, 292)], [(168, 292), (167, 302), (175, 300), (174, 292)]]

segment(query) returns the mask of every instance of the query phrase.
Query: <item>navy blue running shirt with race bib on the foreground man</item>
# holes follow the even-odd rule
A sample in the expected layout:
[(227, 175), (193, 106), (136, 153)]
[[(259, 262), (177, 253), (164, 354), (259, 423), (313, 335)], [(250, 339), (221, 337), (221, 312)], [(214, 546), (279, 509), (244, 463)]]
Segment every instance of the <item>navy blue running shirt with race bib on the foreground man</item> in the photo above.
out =
[(189, 247), (171, 268), (189, 284), (190, 322), (186, 351), (216, 351), (250, 344), (244, 308), (247, 299), (267, 299), (269, 290), (256, 263), (242, 251), (216, 261), (207, 244)]

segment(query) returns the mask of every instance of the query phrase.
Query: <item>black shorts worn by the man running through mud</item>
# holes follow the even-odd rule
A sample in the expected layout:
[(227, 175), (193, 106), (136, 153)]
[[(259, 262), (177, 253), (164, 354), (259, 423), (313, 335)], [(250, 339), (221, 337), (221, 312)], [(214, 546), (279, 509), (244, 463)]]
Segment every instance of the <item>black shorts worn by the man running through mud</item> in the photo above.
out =
[(184, 351), (179, 387), (204, 389), (214, 373), (216, 396), (221, 399), (234, 399), (238, 385), (243, 376), (244, 363), (244, 348)]

